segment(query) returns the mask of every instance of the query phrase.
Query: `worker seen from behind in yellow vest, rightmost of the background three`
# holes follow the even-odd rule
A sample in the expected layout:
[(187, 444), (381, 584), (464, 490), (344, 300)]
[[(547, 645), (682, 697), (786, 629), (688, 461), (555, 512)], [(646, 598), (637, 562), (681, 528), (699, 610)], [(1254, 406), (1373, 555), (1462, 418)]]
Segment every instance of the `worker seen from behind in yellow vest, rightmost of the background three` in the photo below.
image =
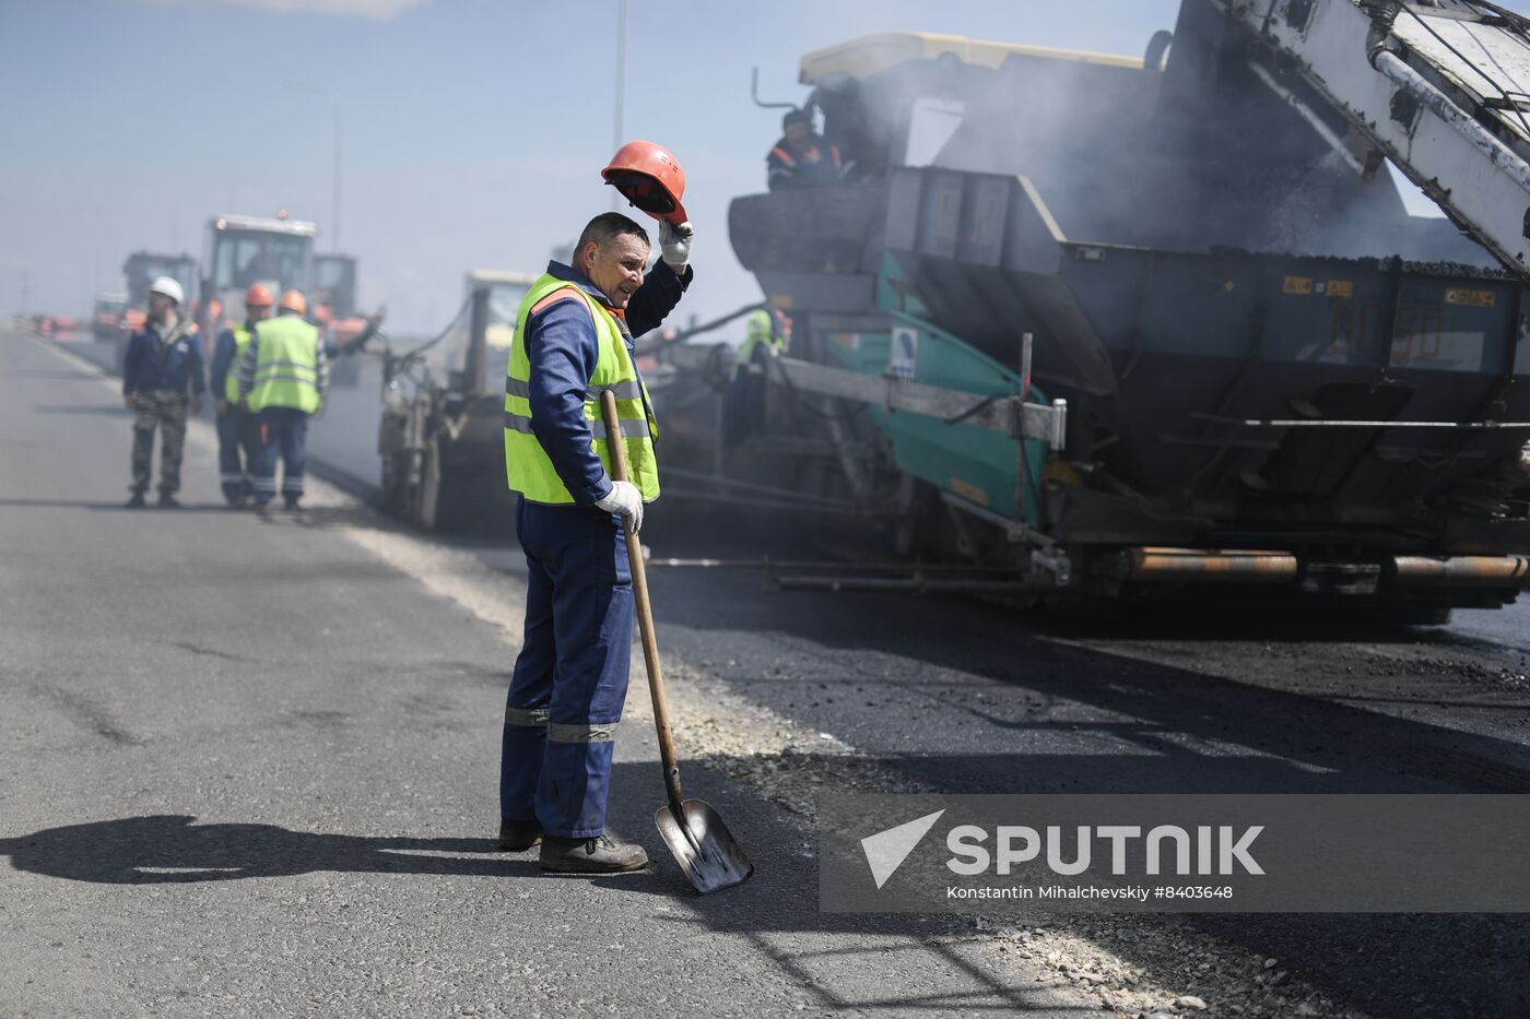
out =
[(282, 457), (282, 499), (297, 510), (303, 499), (303, 468), (308, 462), (308, 419), (324, 405), (329, 360), (318, 329), (303, 320), (308, 301), (300, 291), (286, 291), (277, 317), (256, 326), (245, 356), (239, 361), (239, 396), (254, 415), (259, 435), (256, 456), (256, 510), (268, 513), (277, 496), (277, 457)]

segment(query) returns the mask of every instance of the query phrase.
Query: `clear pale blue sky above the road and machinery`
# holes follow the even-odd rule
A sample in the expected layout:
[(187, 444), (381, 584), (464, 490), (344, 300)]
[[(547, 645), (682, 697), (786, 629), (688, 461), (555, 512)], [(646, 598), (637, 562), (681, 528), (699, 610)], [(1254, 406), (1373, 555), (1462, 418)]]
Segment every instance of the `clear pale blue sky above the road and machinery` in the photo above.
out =
[[(627, 138), (682, 161), (702, 317), (759, 294), (727, 205), (763, 188), (797, 58), (918, 29), (1141, 54), (1178, 0), (630, 0)], [(1525, 5), (1513, 5), (1516, 8)], [(0, 312), (81, 314), (136, 248), (202, 257), (219, 213), (330, 230), (332, 99), (344, 121), (341, 243), (401, 330), (456, 309), (473, 266), (540, 269), (610, 208), (617, 0), (0, 0)], [(320, 249), (329, 249), (327, 237)]]

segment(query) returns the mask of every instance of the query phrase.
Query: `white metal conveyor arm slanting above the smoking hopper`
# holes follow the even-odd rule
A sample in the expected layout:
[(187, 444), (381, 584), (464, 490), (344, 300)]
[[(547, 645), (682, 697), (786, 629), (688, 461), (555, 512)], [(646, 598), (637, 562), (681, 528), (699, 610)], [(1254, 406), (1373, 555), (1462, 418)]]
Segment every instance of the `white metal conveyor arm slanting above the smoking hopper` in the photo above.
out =
[(1264, 43), (1267, 84), (1294, 72), (1349, 121), (1340, 138), (1304, 110), (1351, 164), (1389, 158), (1530, 282), (1530, 20), (1484, 0), (1209, 2)]

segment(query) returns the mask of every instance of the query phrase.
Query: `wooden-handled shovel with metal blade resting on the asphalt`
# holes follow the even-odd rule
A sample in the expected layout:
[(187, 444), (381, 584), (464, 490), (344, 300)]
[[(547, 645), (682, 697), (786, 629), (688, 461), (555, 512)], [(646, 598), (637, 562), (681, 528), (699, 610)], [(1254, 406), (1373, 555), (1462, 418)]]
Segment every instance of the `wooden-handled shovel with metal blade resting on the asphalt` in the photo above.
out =
[[(621, 442), (617, 396), (609, 389), (600, 395), (606, 418), (606, 445), (610, 448), (617, 480), (627, 479), (627, 448)], [(643, 636), (643, 661), (649, 667), (649, 693), (653, 696), (653, 724), (659, 736), (659, 760), (664, 762), (664, 791), (669, 802), (653, 814), (664, 843), (698, 892), (716, 892), (742, 884), (754, 874), (754, 864), (733, 840), (718, 811), (702, 800), (687, 800), (679, 788), (679, 765), (675, 762), (675, 737), (669, 730), (669, 705), (664, 702), (664, 679), (659, 673), (659, 643), (653, 633), (653, 609), (649, 604), (649, 578), (643, 569), (643, 546), (638, 536), (627, 531), (627, 562), (632, 566), (632, 594), (638, 607), (638, 633)]]

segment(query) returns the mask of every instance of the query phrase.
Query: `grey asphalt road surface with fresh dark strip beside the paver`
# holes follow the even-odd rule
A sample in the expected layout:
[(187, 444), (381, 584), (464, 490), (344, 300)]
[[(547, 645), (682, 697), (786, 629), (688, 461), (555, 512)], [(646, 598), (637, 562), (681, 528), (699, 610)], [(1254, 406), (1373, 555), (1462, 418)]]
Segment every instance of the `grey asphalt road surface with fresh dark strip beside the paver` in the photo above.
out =
[[(323, 485), (304, 519), (226, 513), (196, 433), (188, 508), (122, 511), (112, 389), (35, 340), (0, 344), (3, 1014), (1062, 1016), (1149, 1013), (1148, 991), (1164, 1010), (1193, 993), (1204, 1014), (1530, 1014), (1519, 916), (1074, 923), (1062, 953), (1143, 978), (1102, 999), (970, 921), (819, 913), (796, 802), (849, 759), (962, 793), (1525, 793), (1521, 606), (1357, 632), (653, 571), (681, 722), (705, 721), (687, 788), (757, 877), (687, 890), (652, 831), (656, 753), (629, 704), (612, 826), (655, 864), (548, 878), (488, 842), (514, 549), (427, 542)], [(375, 477), (375, 401), (364, 373), (315, 422), (317, 459), (352, 490)], [(678, 510), (666, 526), (661, 508), (659, 555), (783, 551)], [(1164, 944), (1278, 959), (1311, 995), (1238, 996)]]

